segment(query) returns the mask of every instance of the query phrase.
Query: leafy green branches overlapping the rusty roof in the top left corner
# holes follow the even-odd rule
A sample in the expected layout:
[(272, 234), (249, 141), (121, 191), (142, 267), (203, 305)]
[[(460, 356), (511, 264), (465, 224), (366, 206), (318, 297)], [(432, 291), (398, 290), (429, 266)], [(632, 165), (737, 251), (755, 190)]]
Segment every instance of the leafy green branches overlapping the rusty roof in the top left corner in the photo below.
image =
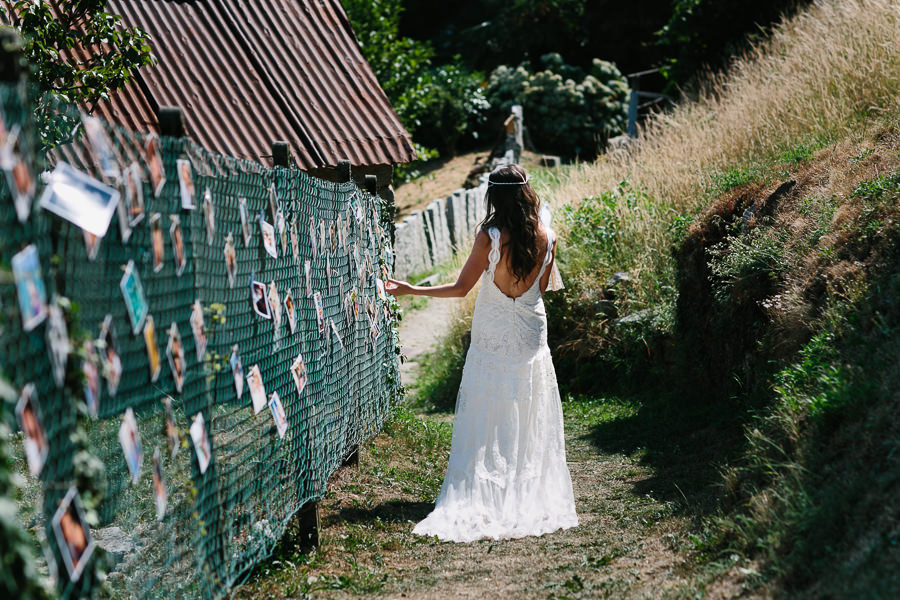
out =
[(17, 0), (2, 6), (25, 38), (25, 55), (42, 91), (90, 111), (132, 73), (155, 62), (149, 35), (106, 12), (105, 0)]

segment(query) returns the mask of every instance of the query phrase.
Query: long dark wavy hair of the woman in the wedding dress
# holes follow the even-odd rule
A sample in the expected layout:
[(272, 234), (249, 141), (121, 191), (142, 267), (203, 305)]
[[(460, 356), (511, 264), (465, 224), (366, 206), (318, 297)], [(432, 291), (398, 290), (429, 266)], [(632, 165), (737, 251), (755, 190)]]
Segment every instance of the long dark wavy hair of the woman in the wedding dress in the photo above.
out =
[(525, 170), (519, 165), (510, 165), (491, 172), (484, 201), (487, 214), (481, 229), (487, 231), (497, 227), (509, 232), (504, 248), (509, 248), (509, 270), (518, 283), (528, 277), (539, 260), (535, 243), (540, 219), (537, 193), (528, 183)]

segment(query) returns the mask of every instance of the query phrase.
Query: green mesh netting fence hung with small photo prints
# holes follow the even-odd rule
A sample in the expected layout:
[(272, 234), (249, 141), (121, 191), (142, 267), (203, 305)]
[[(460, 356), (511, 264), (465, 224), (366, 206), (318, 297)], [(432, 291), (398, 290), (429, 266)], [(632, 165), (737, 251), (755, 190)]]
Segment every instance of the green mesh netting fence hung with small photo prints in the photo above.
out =
[[(0, 95), (3, 121), (8, 131), (18, 133), (17, 151), (38, 179), (24, 222), (17, 218), (9, 186), (0, 182), (0, 376), (17, 393), (34, 385), (47, 447), (38, 478), (28, 474), (24, 457), (19, 457), (26, 481), (20, 494), (23, 523), (40, 541), (63, 597), (98, 590), (116, 597), (227, 595), (253, 565), (271, 554), (298, 509), (322, 496), (329, 475), (346, 456), (380, 429), (398, 392), (395, 306), (376, 289), (376, 277), (392, 263), (387, 211), (380, 199), (352, 183), (264, 168), (176, 138), (157, 140), (166, 177), (157, 194), (146, 135), (100, 124), (112, 141), (113, 162), (123, 172), (116, 180), (103, 174), (76, 113), (53, 115), (50, 121), (63, 129), (76, 127), (68, 143), (43, 155), (37, 151), (33, 103), (19, 88), (2, 88)], [(95, 255), (88, 252), (82, 229), (38, 206), (45, 185), (37, 174), (61, 162), (123, 194), (123, 214), (113, 216)], [(193, 175), (193, 210), (182, 208), (182, 164), (189, 165)], [(144, 200), (139, 220), (139, 211), (132, 210), (136, 203), (124, 200), (132, 176)], [(277, 227), (280, 217), (271, 210), (273, 190), (285, 224), (284, 245)], [(207, 193), (214, 231), (209, 230), (204, 207)], [(277, 258), (264, 247), (260, 215), (275, 226)], [(120, 223), (132, 220), (136, 222), (123, 233)], [(176, 251), (179, 237), (183, 249)], [(48, 342), (50, 320), (31, 331), (23, 329), (19, 295), (25, 288), (17, 286), (12, 262), (30, 245), (37, 250), (48, 301), (58, 295), (71, 303), (63, 302), (72, 349), (62, 386), (52, 374), (50, 352), (58, 345)], [(179, 252), (183, 261), (176, 258)], [(226, 264), (229, 254), (233, 282)], [(324, 332), (315, 294), (308, 294), (307, 262), (309, 287), (322, 298)], [(145, 324), (152, 319), (155, 327), (150, 353), (145, 329), (133, 333), (121, 289), (129, 264), (146, 297)], [(255, 312), (252, 280), (263, 284), (266, 296), (272, 287), (277, 290), (277, 326), (275, 319)], [(293, 331), (285, 305), (288, 290), (296, 309)], [(197, 303), (203, 317), (200, 339), (206, 340), (199, 355), (192, 327)], [(141, 307), (136, 302), (132, 306)], [(183, 357), (173, 339), (176, 349), (170, 360), (168, 331), (173, 324)], [(241, 397), (231, 365), (234, 349), (244, 375)], [(153, 352), (158, 375), (151, 366)], [(301, 392), (291, 373), (298, 356), (305, 363)], [(172, 363), (182, 363), (183, 370), (173, 369)], [(277, 393), (283, 405), (283, 437), (268, 406), (254, 411), (247, 381), (254, 366), (265, 400)], [(183, 374), (183, 381), (176, 372)], [(99, 401), (87, 402), (94, 381), (99, 382)], [(136, 482), (119, 439), (129, 409), (142, 448)], [(174, 445), (167, 414), (177, 430)], [(208, 466), (199, 461), (190, 433), (198, 414), (209, 440)], [(14, 447), (21, 453), (28, 438), (18, 438)], [(161, 520), (155, 454), (167, 492)], [(74, 583), (57, 539), (61, 525), (54, 525), (54, 515), (71, 488), (79, 492), (85, 518), (93, 520), (90, 532), (99, 546), (108, 547), (111, 539), (122, 546), (109, 554), (95, 550), (79, 561), (83, 573)], [(109, 570), (103, 585), (95, 575), (96, 561)]]

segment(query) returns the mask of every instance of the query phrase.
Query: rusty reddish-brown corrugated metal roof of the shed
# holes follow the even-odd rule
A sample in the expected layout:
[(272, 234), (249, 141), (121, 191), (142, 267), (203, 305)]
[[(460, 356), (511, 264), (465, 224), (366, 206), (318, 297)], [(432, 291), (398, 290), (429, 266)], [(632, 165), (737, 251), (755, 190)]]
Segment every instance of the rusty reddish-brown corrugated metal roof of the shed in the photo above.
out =
[(337, 0), (110, 0), (151, 35), (159, 63), (94, 114), (157, 129), (181, 106), (188, 134), (229, 156), (271, 163), (287, 140), (300, 168), (408, 162), (409, 134), (359, 50)]

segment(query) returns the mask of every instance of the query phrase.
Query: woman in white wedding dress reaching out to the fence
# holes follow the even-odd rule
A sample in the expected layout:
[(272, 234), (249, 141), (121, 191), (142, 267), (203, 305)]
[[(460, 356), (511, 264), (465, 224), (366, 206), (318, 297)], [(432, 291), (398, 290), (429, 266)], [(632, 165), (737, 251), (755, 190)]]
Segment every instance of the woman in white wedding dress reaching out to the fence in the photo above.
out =
[(388, 280), (394, 295), (462, 297), (482, 277), (456, 401), (450, 461), (434, 511), (413, 533), (470, 542), (578, 524), (542, 293), (555, 235), (525, 171), (488, 179), (487, 216), (456, 283)]

